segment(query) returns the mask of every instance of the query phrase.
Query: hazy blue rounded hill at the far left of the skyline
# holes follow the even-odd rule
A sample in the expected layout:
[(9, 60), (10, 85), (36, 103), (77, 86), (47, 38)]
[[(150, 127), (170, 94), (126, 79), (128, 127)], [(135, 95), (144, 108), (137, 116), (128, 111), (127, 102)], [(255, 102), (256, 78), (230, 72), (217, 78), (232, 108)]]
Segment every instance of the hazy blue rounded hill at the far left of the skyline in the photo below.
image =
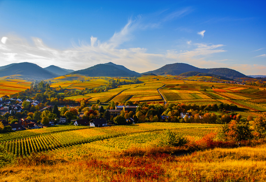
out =
[(40, 66), (29, 62), (17, 63), (0, 70), (0, 76), (9, 76), (16, 74), (22, 75), (20, 77), (30, 79), (50, 79), (58, 76), (55, 73), (47, 71), (44, 68), (41, 68)]

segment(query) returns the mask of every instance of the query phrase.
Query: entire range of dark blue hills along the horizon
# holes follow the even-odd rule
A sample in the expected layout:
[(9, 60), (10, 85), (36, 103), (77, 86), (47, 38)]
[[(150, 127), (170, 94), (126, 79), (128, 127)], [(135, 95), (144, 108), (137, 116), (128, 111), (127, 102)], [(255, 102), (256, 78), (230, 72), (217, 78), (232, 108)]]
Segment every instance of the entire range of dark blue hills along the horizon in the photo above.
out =
[(129, 70), (122, 65), (116, 65), (112, 62), (98, 64), (83, 70), (67, 70), (58, 66), (48, 66), (41, 68), (36, 64), (23, 62), (13, 63), (0, 67), (0, 76), (10, 76), (20, 74), (31, 79), (50, 79), (61, 75), (82, 74), (87, 76), (123, 76), (134, 77), (140, 75), (156, 74), (156, 75), (175, 75), (175, 76), (213, 76), (220, 79), (232, 80), (238, 78), (250, 78), (236, 70), (229, 68), (197, 68), (185, 63), (174, 63), (165, 65), (157, 70), (145, 73), (137, 73)]

